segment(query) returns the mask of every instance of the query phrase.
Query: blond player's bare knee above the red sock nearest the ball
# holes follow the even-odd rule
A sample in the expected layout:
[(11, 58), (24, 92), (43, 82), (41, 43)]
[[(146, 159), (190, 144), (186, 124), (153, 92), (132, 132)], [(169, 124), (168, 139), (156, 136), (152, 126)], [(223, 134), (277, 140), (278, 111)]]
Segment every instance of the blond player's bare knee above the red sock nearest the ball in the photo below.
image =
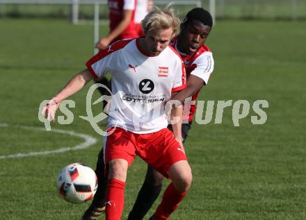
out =
[(108, 178), (115, 178), (125, 182), (127, 179), (127, 161), (126, 160), (111, 160), (108, 162), (109, 174)]

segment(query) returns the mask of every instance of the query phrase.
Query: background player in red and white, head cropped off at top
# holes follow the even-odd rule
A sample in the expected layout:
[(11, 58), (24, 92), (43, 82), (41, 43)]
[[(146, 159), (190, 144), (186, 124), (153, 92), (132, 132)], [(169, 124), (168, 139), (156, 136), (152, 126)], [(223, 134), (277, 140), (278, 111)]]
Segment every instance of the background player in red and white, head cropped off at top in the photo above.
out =
[[(95, 45), (100, 50), (105, 49), (109, 44), (118, 40), (138, 37), (134, 24), (136, 0), (108, 0), (107, 4), (110, 32), (106, 37), (102, 37)], [(95, 81), (96, 83), (102, 83), (106, 87), (111, 88), (111, 81), (108, 81), (106, 77)], [(104, 87), (99, 87), (98, 89), (102, 95), (109, 95)], [(106, 101), (103, 101), (104, 108), (106, 103)]]

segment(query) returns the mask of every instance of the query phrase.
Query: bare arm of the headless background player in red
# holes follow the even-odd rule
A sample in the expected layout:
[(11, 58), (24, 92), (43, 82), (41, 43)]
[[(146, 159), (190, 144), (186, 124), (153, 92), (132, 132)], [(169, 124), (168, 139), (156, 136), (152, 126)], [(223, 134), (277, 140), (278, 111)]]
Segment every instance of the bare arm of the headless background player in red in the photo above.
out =
[(122, 21), (111, 33), (109, 33), (106, 37), (102, 37), (99, 42), (97, 42), (96, 47), (99, 49), (105, 49), (115, 39), (115, 37), (118, 37), (122, 31), (129, 26), (132, 15), (133, 10), (124, 10)]

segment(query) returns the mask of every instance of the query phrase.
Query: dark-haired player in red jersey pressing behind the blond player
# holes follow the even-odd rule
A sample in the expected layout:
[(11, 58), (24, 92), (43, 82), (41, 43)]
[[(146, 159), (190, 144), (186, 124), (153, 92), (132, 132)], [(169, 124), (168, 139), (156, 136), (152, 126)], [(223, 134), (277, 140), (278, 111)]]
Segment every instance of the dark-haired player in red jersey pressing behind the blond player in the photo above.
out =
[[(214, 70), (214, 58), (210, 49), (204, 44), (213, 26), (212, 17), (203, 8), (193, 8), (186, 15), (181, 24), (181, 31), (170, 45), (184, 60), (187, 74), (187, 87), (172, 97), (184, 103), (187, 97), (192, 96), (192, 101), (198, 97), (200, 89), (207, 85), (209, 76)], [(186, 123), (182, 124), (182, 138), (185, 140), (188, 130), (191, 129), (196, 106), (189, 101), (184, 106)], [(172, 130), (172, 126), (168, 128)], [(138, 193), (136, 203), (129, 213), (128, 220), (140, 220), (145, 217), (154, 201), (161, 192), (163, 175), (148, 166), (143, 186)]]

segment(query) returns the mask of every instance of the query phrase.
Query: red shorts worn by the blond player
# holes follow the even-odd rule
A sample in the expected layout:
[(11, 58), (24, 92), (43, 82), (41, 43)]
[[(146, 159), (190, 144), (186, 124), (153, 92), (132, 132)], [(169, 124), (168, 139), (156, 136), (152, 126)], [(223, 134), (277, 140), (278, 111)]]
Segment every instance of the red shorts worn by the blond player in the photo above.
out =
[[(113, 129), (113, 128), (110, 128)], [(168, 128), (150, 134), (136, 134), (123, 128), (106, 137), (105, 163), (113, 159), (127, 160), (129, 166), (139, 155), (163, 176), (179, 160), (187, 160), (179, 142)]]

